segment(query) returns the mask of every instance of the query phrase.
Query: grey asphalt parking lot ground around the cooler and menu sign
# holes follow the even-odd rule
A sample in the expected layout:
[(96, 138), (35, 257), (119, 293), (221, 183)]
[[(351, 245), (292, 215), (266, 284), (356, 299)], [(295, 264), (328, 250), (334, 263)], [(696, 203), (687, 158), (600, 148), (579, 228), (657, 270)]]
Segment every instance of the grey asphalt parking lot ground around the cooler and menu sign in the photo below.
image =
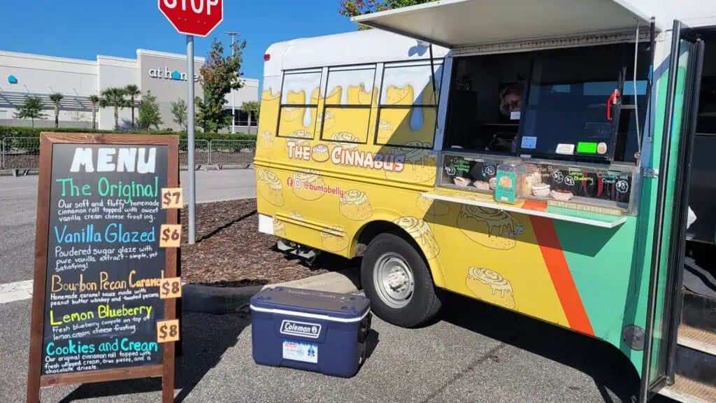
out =
[[(252, 171), (197, 179), (200, 201), (253, 196)], [(32, 278), (36, 187), (36, 177), (0, 177), (0, 284)], [(601, 341), (457, 295), (444, 300), (423, 328), (374, 318), (372, 352), (351, 379), (254, 364), (245, 311), (185, 313), (175, 401), (630, 402), (637, 390), (629, 361)], [(29, 299), (0, 303), (0, 402), (24, 401), (29, 318)], [(159, 379), (55, 387), (42, 402), (157, 402), (160, 387)]]

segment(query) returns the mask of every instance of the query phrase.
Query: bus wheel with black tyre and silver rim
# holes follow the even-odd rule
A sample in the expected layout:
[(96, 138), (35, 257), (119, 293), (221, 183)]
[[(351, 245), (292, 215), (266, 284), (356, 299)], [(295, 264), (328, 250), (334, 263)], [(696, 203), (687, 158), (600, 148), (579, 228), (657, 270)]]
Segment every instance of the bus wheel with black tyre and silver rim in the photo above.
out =
[(440, 309), (425, 260), (395, 234), (379, 234), (369, 243), (361, 263), (361, 283), (371, 310), (397, 326), (419, 326)]

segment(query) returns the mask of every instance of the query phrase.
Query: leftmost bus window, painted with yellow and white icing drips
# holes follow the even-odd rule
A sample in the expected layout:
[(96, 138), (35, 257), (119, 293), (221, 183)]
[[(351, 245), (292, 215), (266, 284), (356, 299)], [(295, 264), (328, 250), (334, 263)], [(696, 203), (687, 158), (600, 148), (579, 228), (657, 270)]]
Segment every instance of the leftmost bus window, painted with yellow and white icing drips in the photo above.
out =
[(314, 138), (320, 88), (321, 70), (284, 74), (277, 136)]

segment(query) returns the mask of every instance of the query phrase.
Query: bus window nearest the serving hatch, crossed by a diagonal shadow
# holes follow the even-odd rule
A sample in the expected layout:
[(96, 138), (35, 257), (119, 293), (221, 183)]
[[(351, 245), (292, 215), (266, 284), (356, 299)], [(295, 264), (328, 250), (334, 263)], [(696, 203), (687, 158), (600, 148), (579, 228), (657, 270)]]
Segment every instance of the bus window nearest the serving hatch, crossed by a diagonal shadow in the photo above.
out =
[[(432, 148), (442, 60), (386, 63), (378, 107), (375, 143), (381, 146)], [(432, 80), (435, 79), (435, 85)]]

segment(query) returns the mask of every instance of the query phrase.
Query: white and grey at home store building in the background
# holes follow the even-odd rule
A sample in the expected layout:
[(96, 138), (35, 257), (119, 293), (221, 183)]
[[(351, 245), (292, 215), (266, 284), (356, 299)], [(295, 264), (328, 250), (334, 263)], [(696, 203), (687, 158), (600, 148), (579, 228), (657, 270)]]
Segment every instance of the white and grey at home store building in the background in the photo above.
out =
[[(195, 57), (195, 94), (203, 97), (198, 73), (204, 63), (203, 57)], [(49, 100), (52, 93), (62, 93), (60, 103), (60, 127), (92, 127), (92, 103), (90, 95), (100, 95), (108, 87), (125, 87), (134, 84), (142, 94), (151, 92), (157, 97), (163, 125), (160, 128), (179, 130), (173, 122), (170, 102), (187, 96), (187, 63), (184, 54), (156, 52), (137, 49), (136, 59), (98, 55), (96, 60), (68, 59), (41, 54), (0, 51), (0, 125), (30, 125), (30, 120), (15, 119), (26, 95), (42, 99), (47, 118), (35, 120), (35, 126), (54, 126), (54, 105)], [(256, 132), (256, 119), (238, 110), (246, 101), (258, 100), (258, 80), (242, 78), (244, 86), (236, 90), (236, 131)], [(140, 97), (141, 99), (141, 97)], [(231, 109), (231, 93), (226, 95), (226, 108)], [(137, 103), (138, 105), (138, 103)], [(135, 108), (135, 119), (138, 108)], [(114, 108), (97, 110), (97, 128), (114, 128)], [(132, 125), (130, 108), (120, 110), (120, 128)], [(249, 130), (251, 129), (251, 130)]]

